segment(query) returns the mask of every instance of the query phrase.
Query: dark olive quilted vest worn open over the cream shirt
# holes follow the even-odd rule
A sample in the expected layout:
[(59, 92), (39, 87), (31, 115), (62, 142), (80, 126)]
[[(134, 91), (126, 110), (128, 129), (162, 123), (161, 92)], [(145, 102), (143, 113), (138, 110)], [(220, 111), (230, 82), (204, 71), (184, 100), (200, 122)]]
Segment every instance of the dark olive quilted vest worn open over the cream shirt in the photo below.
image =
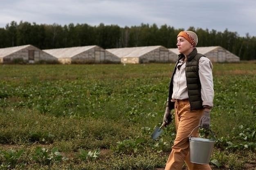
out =
[[(204, 56), (198, 53), (197, 49), (194, 49), (188, 56), (186, 61), (186, 84), (189, 93), (189, 103), (190, 110), (198, 110), (203, 108), (202, 106), (202, 97), (201, 97), (201, 83), (199, 79), (199, 59)], [(179, 55), (178, 61), (185, 57), (183, 54)], [(178, 62), (177, 62), (178, 63)], [(173, 75), (177, 69), (177, 63), (175, 65)], [(168, 106), (170, 109), (174, 108), (174, 102), (171, 102), (171, 97), (173, 94), (173, 75), (171, 78), (169, 86), (169, 95), (168, 95)]]

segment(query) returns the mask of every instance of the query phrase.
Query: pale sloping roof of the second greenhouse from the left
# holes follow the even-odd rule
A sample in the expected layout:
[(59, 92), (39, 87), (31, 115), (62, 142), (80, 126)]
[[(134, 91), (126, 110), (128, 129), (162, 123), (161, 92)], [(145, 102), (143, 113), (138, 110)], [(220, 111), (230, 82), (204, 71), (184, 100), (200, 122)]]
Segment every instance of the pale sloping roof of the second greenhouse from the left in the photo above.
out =
[(56, 58), (72, 58), (75, 55), (88, 51), (89, 49), (92, 49), (94, 47), (96, 47), (96, 45), (76, 46), (76, 47), (68, 47), (68, 48), (61, 48), (61, 49), (47, 49), (43, 51)]

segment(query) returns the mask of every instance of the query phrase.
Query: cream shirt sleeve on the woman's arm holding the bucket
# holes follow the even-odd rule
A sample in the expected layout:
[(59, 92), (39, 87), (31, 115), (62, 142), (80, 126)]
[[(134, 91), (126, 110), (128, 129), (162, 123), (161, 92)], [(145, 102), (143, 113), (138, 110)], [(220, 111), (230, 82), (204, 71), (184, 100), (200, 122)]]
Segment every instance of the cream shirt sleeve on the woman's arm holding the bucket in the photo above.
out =
[(213, 65), (207, 57), (201, 57), (199, 60), (199, 78), (201, 83), (202, 105), (213, 107)]

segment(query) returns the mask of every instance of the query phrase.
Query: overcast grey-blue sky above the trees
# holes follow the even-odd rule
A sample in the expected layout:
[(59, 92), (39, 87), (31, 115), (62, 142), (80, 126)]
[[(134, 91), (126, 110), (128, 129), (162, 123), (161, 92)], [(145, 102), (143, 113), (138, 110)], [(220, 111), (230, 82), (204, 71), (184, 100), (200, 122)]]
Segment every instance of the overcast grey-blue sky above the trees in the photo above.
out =
[(256, 36), (256, 0), (0, 0), (0, 27), (36, 24), (163, 24)]

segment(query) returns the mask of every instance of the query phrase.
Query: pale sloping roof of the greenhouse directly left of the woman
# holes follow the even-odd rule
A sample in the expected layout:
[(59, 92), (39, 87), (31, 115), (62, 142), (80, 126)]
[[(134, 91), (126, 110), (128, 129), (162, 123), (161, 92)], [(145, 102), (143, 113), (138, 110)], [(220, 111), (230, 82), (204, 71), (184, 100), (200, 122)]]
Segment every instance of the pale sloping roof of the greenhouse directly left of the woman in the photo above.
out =
[[(139, 47), (126, 47), (116, 49), (106, 49), (110, 53), (122, 58), (122, 57), (140, 57), (146, 53), (149, 53), (162, 46), (139, 46)], [(164, 47), (165, 48), (165, 47)]]

